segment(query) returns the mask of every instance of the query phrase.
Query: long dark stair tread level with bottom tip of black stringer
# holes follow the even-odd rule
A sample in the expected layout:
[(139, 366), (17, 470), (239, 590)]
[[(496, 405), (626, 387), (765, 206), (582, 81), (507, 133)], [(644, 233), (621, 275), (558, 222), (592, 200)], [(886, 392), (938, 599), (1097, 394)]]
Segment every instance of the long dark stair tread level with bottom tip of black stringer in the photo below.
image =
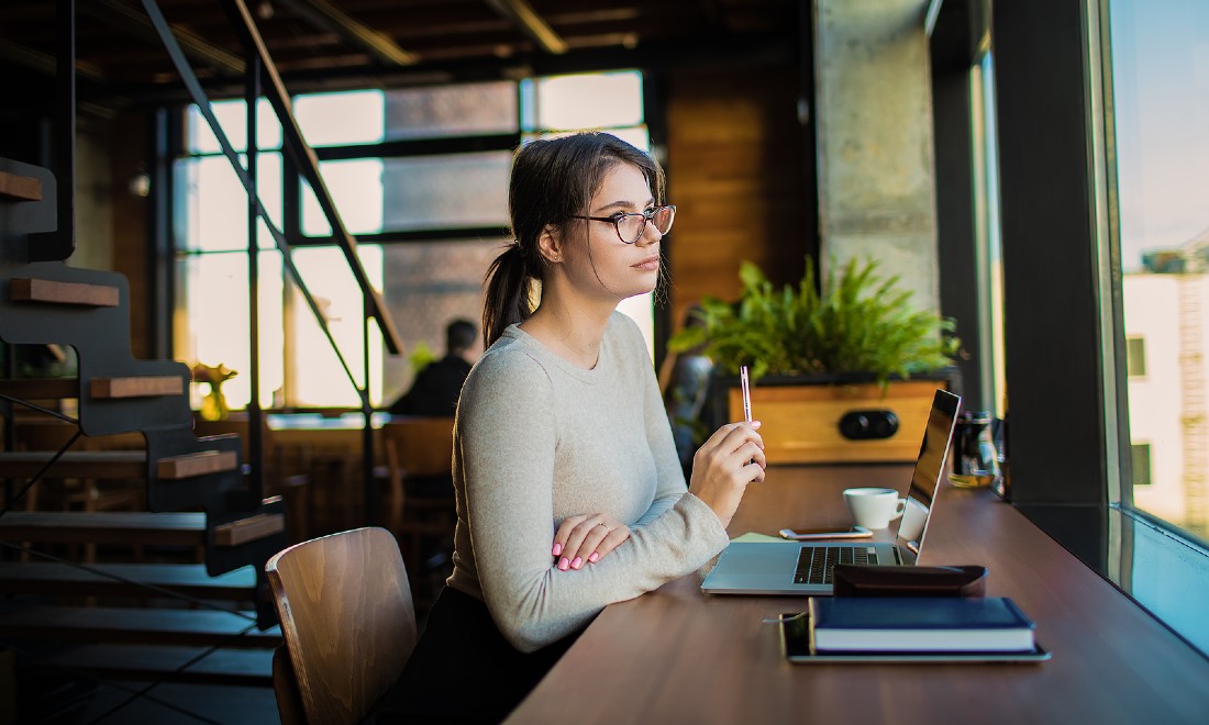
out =
[[(243, 567), (210, 576), (206, 564), (87, 564), (139, 584), (207, 599), (251, 599), (256, 572)], [(0, 592), (163, 597), (166, 594), (58, 562), (0, 562)]]

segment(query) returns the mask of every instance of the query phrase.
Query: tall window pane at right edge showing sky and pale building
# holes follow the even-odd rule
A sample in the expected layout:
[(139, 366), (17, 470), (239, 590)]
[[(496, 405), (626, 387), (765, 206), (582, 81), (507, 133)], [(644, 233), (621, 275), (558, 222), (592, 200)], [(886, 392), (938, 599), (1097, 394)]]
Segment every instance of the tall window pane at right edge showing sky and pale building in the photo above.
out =
[(1145, 341), (1145, 375), (1129, 377), (1128, 396), (1134, 466), (1149, 469), (1150, 485), (1133, 488), (1133, 504), (1202, 538), (1209, 538), (1205, 28), (1204, 2), (1111, 2), (1124, 337)]

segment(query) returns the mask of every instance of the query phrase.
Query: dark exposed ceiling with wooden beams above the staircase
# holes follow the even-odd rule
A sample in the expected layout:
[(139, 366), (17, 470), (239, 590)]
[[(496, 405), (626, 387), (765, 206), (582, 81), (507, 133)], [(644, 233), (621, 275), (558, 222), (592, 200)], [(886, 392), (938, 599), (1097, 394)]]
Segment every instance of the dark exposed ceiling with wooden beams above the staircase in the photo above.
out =
[[(799, 27), (798, 0), (242, 1), (291, 89), (721, 62), (792, 48)], [(46, 86), (63, 4), (0, 2), (0, 71)], [(181, 92), (143, 0), (74, 4), (81, 99), (114, 105)], [(198, 79), (219, 94), (238, 91), (248, 57), (226, 4), (158, 0)]]

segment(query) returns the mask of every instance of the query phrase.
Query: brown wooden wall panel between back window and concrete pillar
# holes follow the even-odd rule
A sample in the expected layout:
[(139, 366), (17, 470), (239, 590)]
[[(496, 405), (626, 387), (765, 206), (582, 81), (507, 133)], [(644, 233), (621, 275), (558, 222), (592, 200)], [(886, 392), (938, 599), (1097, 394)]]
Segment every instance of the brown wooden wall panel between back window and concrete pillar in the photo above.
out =
[(673, 330), (702, 296), (737, 297), (744, 260), (779, 284), (802, 277), (811, 238), (803, 211), (816, 201), (804, 198), (796, 74), (789, 65), (694, 68), (669, 79)]

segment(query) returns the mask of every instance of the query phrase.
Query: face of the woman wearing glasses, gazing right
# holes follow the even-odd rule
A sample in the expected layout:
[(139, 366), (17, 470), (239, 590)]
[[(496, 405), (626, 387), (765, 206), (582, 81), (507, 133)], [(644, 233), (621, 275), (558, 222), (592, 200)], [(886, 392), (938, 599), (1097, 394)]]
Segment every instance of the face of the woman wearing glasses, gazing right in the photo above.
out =
[[(640, 214), (654, 205), (642, 170), (618, 163), (606, 173), (585, 215)], [(661, 238), (655, 225), (647, 224), (636, 243), (625, 244), (612, 222), (573, 219), (563, 230), (562, 261), (575, 289), (620, 301), (655, 289)]]

